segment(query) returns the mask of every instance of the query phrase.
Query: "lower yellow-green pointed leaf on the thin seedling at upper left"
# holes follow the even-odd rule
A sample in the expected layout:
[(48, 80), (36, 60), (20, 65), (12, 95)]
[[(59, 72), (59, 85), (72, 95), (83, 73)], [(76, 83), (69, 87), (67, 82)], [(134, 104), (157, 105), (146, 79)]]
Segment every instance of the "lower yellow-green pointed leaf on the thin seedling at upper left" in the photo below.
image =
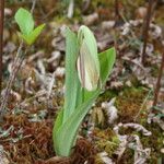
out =
[(21, 35), (21, 37), (25, 40), (27, 45), (34, 44), (38, 35), (42, 33), (45, 24), (37, 26), (34, 31), (32, 31), (28, 35)]

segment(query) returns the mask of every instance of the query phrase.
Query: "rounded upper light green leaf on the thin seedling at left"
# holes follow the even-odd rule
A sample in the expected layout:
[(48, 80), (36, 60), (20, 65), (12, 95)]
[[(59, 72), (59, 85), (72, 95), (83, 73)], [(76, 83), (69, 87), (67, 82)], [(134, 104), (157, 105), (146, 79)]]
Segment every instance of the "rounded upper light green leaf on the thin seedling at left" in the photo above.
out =
[(27, 10), (20, 8), (14, 17), (23, 35), (28, 35), (34, 30), (33, 15)]

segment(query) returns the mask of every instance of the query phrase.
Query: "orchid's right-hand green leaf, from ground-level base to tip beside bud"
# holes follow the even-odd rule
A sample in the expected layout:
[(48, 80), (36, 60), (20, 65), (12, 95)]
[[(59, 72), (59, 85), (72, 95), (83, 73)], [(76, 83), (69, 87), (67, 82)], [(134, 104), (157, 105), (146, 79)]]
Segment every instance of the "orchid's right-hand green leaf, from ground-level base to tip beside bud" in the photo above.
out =
[[(101, 75), (103, 84), (105, 84), (109, 73), (112, 72), (115, 58), (116, 54), (115, 49), (113, 48), (99, 54), (101, 72), (104, 71), (104, 73)], [(54, 141), (55, 144), (57, 144), (57, 147), (55, 147), (57, 155), (61, 156), (70, 155), (72, 145), (73, 143), (75, 143), (78, 129), (83, 118), (87, 114), (90, 107), (99, 95), (99, 93), (101, 89), (92, 93), (85, 92), (85, 95), (87, 97), (85, 98), (85, 102), (75, 108), (75, 110), (67, 119), (67, 121), (61, 127), (58, 128), (58, 131), (54, 129)]]

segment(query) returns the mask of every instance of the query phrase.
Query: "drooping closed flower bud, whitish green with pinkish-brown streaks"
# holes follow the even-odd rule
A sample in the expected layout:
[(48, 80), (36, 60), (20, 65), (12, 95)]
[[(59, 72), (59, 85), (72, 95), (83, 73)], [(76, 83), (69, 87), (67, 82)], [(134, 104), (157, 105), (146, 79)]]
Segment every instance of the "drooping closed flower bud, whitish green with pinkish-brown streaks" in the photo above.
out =
[(82, 25), (78, 32), (79, 57), (78, 74), (82, 87), (87, 91), (97, 89), (99, 82), (99, 60), (97, 56), (97, 45), (93, 33), (89, 27)]

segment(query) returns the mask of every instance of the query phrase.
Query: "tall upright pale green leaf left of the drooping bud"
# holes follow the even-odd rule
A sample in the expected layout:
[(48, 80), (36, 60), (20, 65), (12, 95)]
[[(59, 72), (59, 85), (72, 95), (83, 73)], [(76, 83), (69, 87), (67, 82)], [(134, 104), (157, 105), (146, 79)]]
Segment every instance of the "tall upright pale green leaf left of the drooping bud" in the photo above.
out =
[(66, 93), (63, 105), (63, 122), (75, 109), (77, 97), (80, 94), (80, 82), (77, 74), (78, 39), (73, 32), (66, 30)]

